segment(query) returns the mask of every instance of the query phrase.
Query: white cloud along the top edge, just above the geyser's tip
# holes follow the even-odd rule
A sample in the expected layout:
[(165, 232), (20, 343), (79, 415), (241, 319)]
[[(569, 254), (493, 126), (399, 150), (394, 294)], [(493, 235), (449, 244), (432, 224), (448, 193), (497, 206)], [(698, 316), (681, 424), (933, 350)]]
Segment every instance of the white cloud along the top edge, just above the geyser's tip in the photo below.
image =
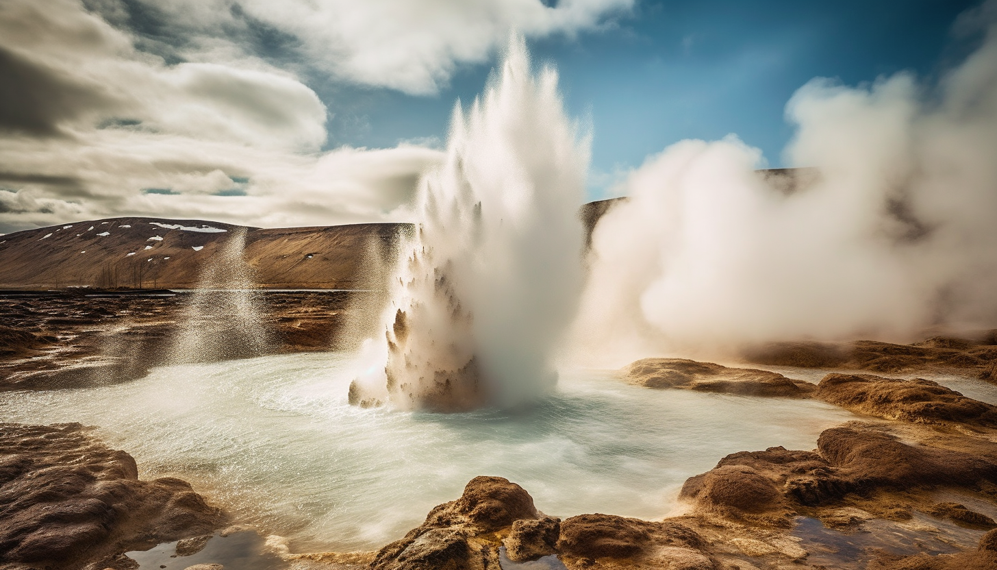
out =
[(92, 0), (88, 5), (188, 61), (281, 61), (358, 84), (436, 93), (518, 30), (572, 35), (634, 0)]

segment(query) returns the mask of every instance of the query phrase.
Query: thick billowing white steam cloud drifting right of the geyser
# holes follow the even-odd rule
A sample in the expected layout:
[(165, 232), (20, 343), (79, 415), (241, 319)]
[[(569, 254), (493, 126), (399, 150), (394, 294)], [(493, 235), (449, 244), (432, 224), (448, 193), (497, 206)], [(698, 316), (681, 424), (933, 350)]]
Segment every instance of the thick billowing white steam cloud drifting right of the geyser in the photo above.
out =
[(753, 172), (761, 152), (734, 136), (682, 141), (630, 175), (593, 235), (576, 353), (995, 323), (997, 26), (938, 85), (814, 80), (787, 117), (788, 162), (817, 167), (796, 188)]

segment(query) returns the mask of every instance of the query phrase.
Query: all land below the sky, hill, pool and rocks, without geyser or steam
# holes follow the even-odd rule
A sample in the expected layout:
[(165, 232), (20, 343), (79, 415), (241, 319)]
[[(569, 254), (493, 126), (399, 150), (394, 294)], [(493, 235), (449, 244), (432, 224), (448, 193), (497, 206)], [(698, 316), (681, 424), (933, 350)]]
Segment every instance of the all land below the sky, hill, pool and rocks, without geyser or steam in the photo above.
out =
[[(530, 410), (386, 415), (348, 405), (337, 354), (376, 329), (407, 233), (3, 237), (4, 568), (997, 567), (994, 331), (649, 357), (563, 372)], [(342, 431), (302, 445), (316, 417)]]

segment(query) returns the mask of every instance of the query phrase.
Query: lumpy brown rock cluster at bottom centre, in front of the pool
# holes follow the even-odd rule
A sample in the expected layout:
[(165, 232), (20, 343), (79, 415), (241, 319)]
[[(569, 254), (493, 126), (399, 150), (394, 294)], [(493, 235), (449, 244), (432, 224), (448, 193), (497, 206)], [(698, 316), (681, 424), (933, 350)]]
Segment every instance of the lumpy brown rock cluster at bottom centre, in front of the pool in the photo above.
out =
[[(460, 499), (437, 506), (426, 522), (378, 552), (372, 570), (499, 569), (498, 549), (525, 562), (556, 554), (574, 568), (712, 569), (700, 536), (677, 521), (606, 514), (564, 521), (536, 510), (519, 485), (475, 477)], [(672, 564), (672, 566), (669, 566)]]

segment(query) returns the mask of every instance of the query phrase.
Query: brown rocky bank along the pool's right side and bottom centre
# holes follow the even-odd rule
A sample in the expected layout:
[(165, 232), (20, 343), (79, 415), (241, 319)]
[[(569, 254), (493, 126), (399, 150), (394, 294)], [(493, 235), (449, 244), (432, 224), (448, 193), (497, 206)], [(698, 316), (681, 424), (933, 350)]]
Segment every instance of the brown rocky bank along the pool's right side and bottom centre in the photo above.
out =
[[(990, 379), (991, 340), (783, 344), (757, 360)], [(780, 358), (771, 357), (774, 347)], [(825, 430), (813, 450), (770, 447), (722, 458), (686, 481), (680, 498), (689, 510), (679, 517), (560, 520), (515, 483), (477, 477), (460, 499), (376, 553), (307, 559), (374, 570), (997, 568), (997, 407), (916, 377), (830, 373), (814, 384), (680, 358), (638, 360), (620, 376), (655, 389), (814, 397), (868, 420)], [(531, 561), (537, 565), (515, 565)]]

